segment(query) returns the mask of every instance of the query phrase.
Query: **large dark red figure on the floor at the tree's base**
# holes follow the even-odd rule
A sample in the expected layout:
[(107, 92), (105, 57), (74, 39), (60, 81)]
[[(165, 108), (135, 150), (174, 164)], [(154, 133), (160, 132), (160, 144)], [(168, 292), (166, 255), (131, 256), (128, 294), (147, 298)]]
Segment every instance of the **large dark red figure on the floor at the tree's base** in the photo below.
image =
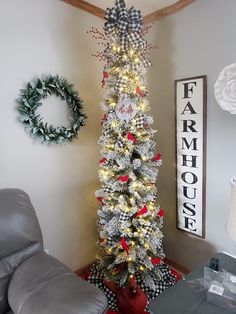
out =
[(104, 282), (116, 294), (117, 306), (122, 314), (145, 314), (147, 296), (137, 285), (134, 278), (130, 279), (125, 288), (119, 288), (114, 282)]

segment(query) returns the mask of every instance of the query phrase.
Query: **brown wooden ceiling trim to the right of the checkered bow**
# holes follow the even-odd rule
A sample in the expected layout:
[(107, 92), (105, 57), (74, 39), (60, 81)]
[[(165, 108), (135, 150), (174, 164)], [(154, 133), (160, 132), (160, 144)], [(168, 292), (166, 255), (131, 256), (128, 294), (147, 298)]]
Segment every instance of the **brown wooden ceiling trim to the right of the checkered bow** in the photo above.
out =
[(194, 1), (196, 0), (179, 0), (176, 3), (169, 5), (168, 7), (165, 7), (163, 9), (157, 10), (153, 13), (144, 16), (143, 23), (149, 24), (155, 22), (156, 20), (162, 19), (163, 17), (166, 17), (168, 15), (174, 14), (185, 8), (187, 5), (193, 3)]

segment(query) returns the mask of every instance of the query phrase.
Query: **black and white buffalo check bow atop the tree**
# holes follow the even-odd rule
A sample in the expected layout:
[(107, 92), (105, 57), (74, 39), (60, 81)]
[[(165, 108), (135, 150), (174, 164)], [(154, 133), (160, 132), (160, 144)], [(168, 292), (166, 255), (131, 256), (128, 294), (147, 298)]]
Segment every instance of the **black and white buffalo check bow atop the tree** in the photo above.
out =
[(107, 34), (111, 34), (113, 31), (119, 32), (122, 51), (127, 50), (130, 46), (141, 50), (147, 47), (146, 40), (140, 36), (142, 29), (140, 10), (133, 7), (127, 10), (124, 0), (116, 0), (115, 7), (107, 9), (105, 19)]

